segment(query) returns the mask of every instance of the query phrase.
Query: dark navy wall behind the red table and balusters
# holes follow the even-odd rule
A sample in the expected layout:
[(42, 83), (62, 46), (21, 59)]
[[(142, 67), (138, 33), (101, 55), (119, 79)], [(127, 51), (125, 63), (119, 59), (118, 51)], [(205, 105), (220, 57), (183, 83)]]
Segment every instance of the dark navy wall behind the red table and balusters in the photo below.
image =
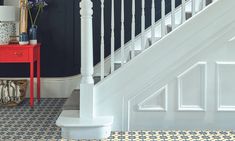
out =
[[(176, 0), (176, 5), (181, 0)], [(110, 54), (111, 0), (105, 0), (105, 55)], [(80, 73), (80, 13), (78, 0), (49, 0), (40, 15), (38, 40), (41, 48), (42, 77), (64, 77)], [(166, 0), (170, 11), (171, 0)], [(155, 0), (156, 20), (160, 19), (161, 0)], [(93, 0), (94, 65), (100, 61), (100, 1)], [(120, 47), (121, 1), (115, 0), (115, 48)], [(125, 0), (125, 41), (131, 38), (131, 0)], [(146, 27), (151, 23), (151, 1), (146, 0)], [(141, 30), (141, 0), (136, 0), (136, 34)], [(0, 64), (0, 77), (25, 77), (28, 64)]]

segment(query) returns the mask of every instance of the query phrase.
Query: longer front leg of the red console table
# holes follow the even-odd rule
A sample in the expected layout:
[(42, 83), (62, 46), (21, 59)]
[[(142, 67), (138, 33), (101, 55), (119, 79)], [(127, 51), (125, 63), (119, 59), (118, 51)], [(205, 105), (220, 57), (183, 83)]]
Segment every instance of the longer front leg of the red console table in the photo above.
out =
[(30, 106), (34, 105), (34, 61), (30, 62)]

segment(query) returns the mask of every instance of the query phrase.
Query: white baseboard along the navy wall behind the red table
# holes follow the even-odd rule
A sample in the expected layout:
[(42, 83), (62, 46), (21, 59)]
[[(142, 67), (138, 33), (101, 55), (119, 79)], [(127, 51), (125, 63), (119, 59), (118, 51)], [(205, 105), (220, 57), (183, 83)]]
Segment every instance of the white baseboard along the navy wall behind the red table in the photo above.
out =
[[(19, 80), (29, 78), (0, 78), (1, 80)], [(74, 89), (79, 89), (80, 75), (57, 78), (41, 78), (41, 98), (68, 98)], [(34, 96), (37, 94), (37, 79), (34, 79)], [(29, 81), (26, 97), (29, 97)]]

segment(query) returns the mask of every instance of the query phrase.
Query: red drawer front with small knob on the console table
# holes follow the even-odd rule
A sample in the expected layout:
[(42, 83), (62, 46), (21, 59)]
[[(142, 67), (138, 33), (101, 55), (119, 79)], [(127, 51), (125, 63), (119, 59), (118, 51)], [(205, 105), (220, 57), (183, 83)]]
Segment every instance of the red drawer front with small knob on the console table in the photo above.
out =
[(29, 49), (19, 48), (0, 48), (0, 60), (1, 61), (11, 61), (11, 60), (28, 60), (29, 59)]

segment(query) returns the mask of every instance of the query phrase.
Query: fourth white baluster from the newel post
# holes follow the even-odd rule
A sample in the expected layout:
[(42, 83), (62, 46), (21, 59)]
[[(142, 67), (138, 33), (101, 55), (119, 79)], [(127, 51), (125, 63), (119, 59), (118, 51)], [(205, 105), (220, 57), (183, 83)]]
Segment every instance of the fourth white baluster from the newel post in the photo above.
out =
[(131, 23), (131, 58), (134, 58), (135, 49), (135, 0), (132, 0), (132, 23)]

